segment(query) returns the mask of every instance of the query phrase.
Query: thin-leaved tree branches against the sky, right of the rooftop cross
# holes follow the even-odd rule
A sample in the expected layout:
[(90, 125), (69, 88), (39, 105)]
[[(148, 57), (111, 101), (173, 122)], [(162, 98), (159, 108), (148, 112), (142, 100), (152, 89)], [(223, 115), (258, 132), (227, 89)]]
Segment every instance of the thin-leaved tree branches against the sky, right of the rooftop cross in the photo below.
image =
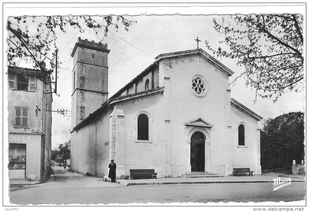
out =
[[(213, 20), (214, 29), (224, 36), (217, 50), (206, 46), (217, 57), (237, 59), (245, 66), (237, 78), (256, 90), (256, 97), (274, 102), (284, 92), (302, 87), (303, 16), (300, 14), (229, 15), (222, 22)], [(226, 20), (230, 19), (230, 20)], [(235, 83), (237, 78), (232, 83)]]

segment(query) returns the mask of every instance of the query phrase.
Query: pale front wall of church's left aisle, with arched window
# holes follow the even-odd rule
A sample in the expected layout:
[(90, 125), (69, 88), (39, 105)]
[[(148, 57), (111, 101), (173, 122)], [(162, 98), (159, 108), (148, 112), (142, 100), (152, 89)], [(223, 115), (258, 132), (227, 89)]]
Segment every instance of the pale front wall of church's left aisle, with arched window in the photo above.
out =
[[(152, 169), (151, 167), (156, 167), (157, 177), (162, 177), (162, 93), (151, 94), (148, 97), (142, 96), (140, 101), (132, 103), (133, 100), (135, 98), (119, 102), (114, 106), (114, 110), (119, 108), (124, 113), (124, 175), (129, 175), (130, 169), (140, 169), (140, 167)], [(153, 126), (150, 129), (150, 141), (138, 142), (137, 140), (137, 116), (141, 112), (149, 115), (151, 126)], [(116, 118), (114, 119), (116, 121)], [(115, 122), (110, 123), (112, 124), (110, 126), (112, 133), (113, 128), (117, 130), (117, 127), (114, 124)], [(118, 169), (119, 165), (117, 162), (116, 164)]]

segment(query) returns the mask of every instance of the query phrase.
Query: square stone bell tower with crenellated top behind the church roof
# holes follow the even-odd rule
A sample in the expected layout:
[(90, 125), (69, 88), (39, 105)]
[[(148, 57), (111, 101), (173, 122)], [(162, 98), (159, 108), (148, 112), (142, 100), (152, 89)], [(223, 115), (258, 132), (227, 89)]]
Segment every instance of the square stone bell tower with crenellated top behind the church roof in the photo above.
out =
[(108, 99), (108, 65), (110, 50), (107, 44), (78, 38), (71, 57), (72, 70), (72, 118), (71, 129), (89, 114), (99, 109)]

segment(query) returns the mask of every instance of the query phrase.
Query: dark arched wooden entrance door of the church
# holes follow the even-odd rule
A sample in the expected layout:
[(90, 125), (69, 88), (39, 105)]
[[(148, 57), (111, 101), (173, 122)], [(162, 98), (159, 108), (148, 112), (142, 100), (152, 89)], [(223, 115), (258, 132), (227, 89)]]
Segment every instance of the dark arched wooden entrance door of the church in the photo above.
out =
[(192, 172), (205, 171), (205, 138), (201, 132), (191, 136), (190, 165)]

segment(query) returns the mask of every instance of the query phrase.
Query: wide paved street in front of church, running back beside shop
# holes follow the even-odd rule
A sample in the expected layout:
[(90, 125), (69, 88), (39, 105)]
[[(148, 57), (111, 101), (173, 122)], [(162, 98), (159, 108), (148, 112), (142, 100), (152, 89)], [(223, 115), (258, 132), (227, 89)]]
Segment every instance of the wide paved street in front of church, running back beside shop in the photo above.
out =
[(271, 183), (120, 186), (71, 173), (63, 167), (55, 167), (54, 173), (44, 184), (11, 191), (11, 203), (290, 202), (303, 200), (305, 196), (305, 182), (292, 182), (291, 186), (273, 192)]

